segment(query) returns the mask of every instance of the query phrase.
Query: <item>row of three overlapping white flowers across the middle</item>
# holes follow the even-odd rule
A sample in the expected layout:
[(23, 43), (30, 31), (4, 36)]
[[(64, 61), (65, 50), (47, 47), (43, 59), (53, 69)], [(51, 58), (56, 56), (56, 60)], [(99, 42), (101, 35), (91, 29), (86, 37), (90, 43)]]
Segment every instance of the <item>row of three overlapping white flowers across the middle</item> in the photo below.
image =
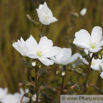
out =
[[(78, 58), (78, 54), (72, 57), (72, 50), (70, 48), (59, 48), (53, 46), (52, 40), (46, 36), (42, 37), (39, 43), (31, 35), (26, 41), (21, 38), (13, 43), (13, 47), (22, 55), (32, 59), (39, 59), (44, 65), (57, 64), (67, 65), (74, 62)], [(68, 56), (67, 56), (68, 55)]]

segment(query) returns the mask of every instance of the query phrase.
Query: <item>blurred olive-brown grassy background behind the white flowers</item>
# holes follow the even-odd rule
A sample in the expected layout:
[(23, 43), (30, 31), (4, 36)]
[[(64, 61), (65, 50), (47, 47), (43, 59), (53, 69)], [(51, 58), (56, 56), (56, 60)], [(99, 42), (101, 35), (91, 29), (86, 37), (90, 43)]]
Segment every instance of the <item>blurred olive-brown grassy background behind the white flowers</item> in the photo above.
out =
[[(80, 29), (91, 32), (94, 26), (103, 24), (103, 0), (45, 0), (57, 22), (45, 26), (43, 34), (52, 39), (54, 45), (60, 47), (71, 47), (73, 53), (78, 52), (72, 44), (74, 34)], [(39, 40), (39, 30), (26, 18), (26, 14), (38, 21), (36, 8), (43, 0), (0, 0), (0, 87), (8, 87), (9, 92), (19, 91), (19, 82), (29, 81), (29, 74), (25, 72), (25, 65), (20, 61), (22, 57), (13, 47), (12, 43), (20, 37), (26, 40), (33, 35)], [(85, 16), (80, 15), (80, 10), (87, 8)], [(75, 17), (78, 13), (79, 17)], [(55, 71), (58, 66), (51, 66)], [(75, 76), (74, 76), (75, 75)], [(55, 86), (56, 75), (54, 73), (44, 76), (48, 85)], [(90, 81), (103, 89), (103, 81), (99, 72), (92, 71)], [(68, 73), (67, 81), (78, 82), (82, 78), (76, 73)], [(98, 94), (94, 89), (89, 89), (89, 94)]]

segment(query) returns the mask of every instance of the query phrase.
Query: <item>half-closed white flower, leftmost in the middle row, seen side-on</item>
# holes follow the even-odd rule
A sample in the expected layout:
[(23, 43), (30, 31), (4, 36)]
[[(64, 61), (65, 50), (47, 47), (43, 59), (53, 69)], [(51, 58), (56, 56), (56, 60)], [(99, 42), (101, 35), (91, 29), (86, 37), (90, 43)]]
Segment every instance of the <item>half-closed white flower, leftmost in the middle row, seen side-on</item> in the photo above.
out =
[[(30, 43), (35, 43), (36, 44), (36, 41), (35, 39), (33, 39), (32, 36), (29, 37), (29, 39), (27, 39), (26, 41), (23, 40), (23, 38), (21, 37), (20, 40), (18, 40), (18, 42), (15, 42), (12, 44), (12, 46), (22, 55), (22, 56), (26, 56), (26, 53), (28, 50), (30, 50), (31, 48), (31, 45), (30, 47), (26, 47), (26, 44), (28, 44), (29, 42)], [(35, 46), (35, 45), (34, 45)], [(32, 48), (31, 48), (32, 49)]]

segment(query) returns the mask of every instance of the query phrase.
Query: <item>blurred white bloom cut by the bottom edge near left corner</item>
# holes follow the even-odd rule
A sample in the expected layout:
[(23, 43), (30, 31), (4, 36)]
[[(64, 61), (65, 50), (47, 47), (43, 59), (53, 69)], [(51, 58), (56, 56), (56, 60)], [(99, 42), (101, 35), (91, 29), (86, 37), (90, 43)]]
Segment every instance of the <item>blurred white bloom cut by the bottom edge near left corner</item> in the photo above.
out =
[(2, 100), (2, 103), (20, 103), (20, 101), (15, 95), (8, 94)]

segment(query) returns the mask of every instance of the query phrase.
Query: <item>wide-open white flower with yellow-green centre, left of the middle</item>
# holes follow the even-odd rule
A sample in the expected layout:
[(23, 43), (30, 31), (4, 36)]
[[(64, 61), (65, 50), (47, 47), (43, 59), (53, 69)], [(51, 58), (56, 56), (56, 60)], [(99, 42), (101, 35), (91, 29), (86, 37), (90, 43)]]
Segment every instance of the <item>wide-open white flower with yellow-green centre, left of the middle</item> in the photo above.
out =
[(28, 51), (26, 55), (33, 59), (38, 58), (46, 66), (52, 65), (54, 62), (48, 58), (59, 53), (58, 47), (53, 47), (53, 42), (46, 36), (42, 37), (38, 44), (37, 42), (33, 43), (33, 39), (26, 44), (27, 48), (33, 48), (33, 50)]

